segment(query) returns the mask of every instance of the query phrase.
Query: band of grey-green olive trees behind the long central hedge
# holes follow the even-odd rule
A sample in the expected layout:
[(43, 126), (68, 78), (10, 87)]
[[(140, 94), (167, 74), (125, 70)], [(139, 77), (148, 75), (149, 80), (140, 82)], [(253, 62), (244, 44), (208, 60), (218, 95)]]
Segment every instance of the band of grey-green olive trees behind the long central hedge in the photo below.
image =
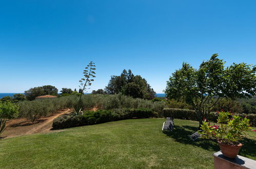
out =
[[(37, 118), (49, 115), (49, 113), (61, 110), (64, 108), (72, 109), (77, 107), (80, 95), (69, 95), (59, 98), (41, 99), (32, 101), (19, 101), (19, 117), (25, 117), (31, 121)], [(144, 99), (134, 99), (124, 95), (101, 95), (101, 94), (87, 94), (82, 95), (80, 107), (81, 110), (98, 107), (105, 110), (112, 109), (137, 109), (146, 108), (154, 112), (162, 114), (165, 108), (165, 101), (152, 102)]]

